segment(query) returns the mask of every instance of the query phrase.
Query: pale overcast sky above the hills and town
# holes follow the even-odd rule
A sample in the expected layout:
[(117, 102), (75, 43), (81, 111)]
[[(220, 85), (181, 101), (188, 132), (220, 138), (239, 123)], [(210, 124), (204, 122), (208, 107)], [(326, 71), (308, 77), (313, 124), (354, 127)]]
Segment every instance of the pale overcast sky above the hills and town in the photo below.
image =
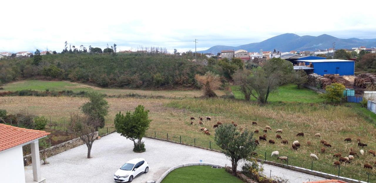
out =
[(294, 33), (376, 38), (376, 1), (3, 1), (0, 52), (72, 46), (179, 52), (239, 46)]

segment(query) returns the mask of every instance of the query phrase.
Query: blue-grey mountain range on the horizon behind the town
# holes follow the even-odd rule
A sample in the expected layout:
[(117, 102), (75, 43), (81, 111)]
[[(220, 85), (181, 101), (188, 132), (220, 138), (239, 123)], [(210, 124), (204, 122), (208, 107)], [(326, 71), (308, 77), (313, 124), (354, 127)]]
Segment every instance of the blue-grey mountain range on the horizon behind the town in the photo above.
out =
[(335, 42), (336, 49), (351, 49), (352, 47), (366, 46), (367, 48), (376, 47), (376, 39), (340, 39), (331, 35), (323, 34), (317, 37), (305, 35), (299, 36), (296, 34), (286, 33), (269, 38), (260, 43), (250, 43), (240, 46), (213, 46), (207, 50), (198, 51), (200, 53), (218, 53), (221, 50), (238, 50), (244, 49), (249, 52), (259, 52), (260, 49), (264, 51), (273, 51), (277, 49), (280, 52), (290, 52), (291, 50), (317, 50), (328, 49), (333, 47)]

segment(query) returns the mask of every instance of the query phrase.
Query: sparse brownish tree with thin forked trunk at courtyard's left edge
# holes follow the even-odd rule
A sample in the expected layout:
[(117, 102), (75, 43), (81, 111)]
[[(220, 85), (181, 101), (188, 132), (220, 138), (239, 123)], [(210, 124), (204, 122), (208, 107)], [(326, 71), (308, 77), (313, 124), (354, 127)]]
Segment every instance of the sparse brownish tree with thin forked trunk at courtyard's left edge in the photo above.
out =
[(97, 139), (97, 127), (100, 125), (98, 119), (93, 119), (88, 115), (71, 114), (68, 130), (79, 136), (88, 148), (88, 158), (91, 158), (91, 148), (94, 140)]

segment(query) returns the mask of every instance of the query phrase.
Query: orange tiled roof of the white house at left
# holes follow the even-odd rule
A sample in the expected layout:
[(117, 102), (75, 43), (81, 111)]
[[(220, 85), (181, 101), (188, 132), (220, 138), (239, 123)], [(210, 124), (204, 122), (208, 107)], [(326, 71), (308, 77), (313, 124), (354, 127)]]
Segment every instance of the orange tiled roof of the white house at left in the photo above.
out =
[(49, 135), (45, 131), (0, 124), (0, 152)]

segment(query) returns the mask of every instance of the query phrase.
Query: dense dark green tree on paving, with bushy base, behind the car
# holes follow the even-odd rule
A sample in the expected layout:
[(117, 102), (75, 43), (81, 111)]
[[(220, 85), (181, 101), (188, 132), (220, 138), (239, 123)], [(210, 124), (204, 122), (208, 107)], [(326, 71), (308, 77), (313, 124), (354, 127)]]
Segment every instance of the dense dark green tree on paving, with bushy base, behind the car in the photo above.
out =
[[(145, 110), (143, 105), (138, 105), (131, 114), (127, 111), (125, 116), (118, 112), (114, 119), (115, 129), (121, 136), (133, 141), (133, 151), (137, 153), (144, 152), (145, 145), (142, 137), (145, 136), (146, 130), (149, 128), (152, 120), (148, 117), (149, 110)], [(138, 140), (136, 142), (136, 139)]]

